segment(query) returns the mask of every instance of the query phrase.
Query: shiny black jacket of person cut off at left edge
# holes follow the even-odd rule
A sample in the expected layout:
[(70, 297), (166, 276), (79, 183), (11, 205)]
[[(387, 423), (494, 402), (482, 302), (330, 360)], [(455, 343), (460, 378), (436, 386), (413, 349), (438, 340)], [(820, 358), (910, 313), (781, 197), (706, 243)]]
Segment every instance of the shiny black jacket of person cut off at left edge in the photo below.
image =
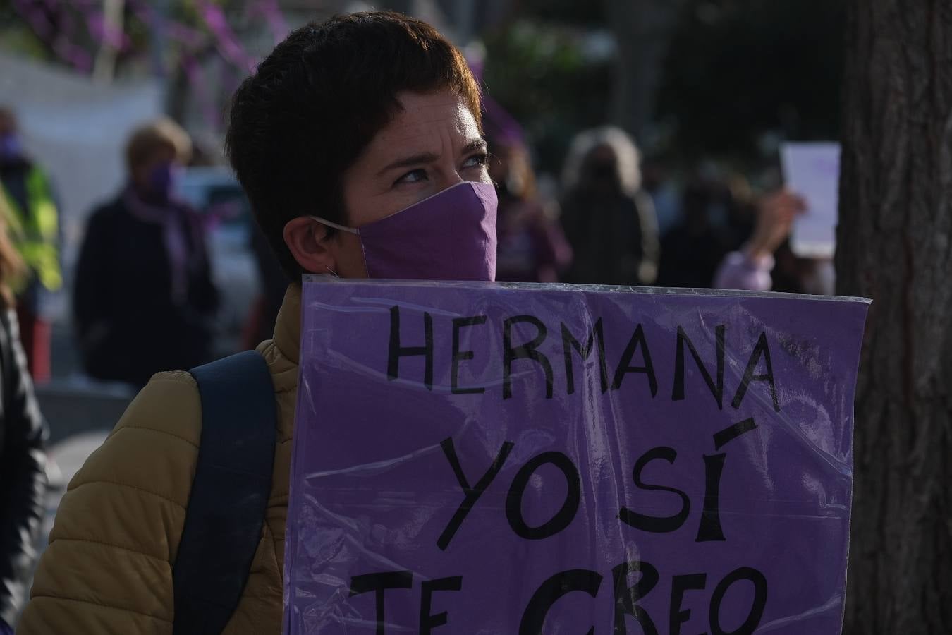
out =
[(47, 427), (33, 395), (16, 314), (0, 314), (0, 620), (26, 602), (46, 493)]

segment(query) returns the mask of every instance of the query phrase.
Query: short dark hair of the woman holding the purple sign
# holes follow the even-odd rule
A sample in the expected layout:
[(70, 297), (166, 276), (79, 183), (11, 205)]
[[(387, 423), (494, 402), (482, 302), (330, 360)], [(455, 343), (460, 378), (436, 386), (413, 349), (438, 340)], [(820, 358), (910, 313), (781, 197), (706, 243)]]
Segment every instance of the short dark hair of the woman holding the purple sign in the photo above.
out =
[(426, 22), (391, 11), (293, 31), (231, 100), (228, 159), (291, 279), (284, 227), (307, 214), (347, 224), (342, 176), (400, 109), (399, 92), (450, 89), (482, 120), (466, 60)]

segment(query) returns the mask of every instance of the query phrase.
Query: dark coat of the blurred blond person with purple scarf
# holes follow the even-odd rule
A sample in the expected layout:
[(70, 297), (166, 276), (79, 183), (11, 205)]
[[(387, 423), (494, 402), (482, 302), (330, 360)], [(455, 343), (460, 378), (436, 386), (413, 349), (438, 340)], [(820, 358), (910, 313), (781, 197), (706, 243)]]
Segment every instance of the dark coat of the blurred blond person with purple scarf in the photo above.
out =
[(72, 299), (92, 377), (142, 387), (156, 372), (210, 360), (218, 291), (197, 216), (178, 212), (190, 237), (188, 288), (178, 301), (159, 225), (133, 216), (122, 196), (89, 218)]

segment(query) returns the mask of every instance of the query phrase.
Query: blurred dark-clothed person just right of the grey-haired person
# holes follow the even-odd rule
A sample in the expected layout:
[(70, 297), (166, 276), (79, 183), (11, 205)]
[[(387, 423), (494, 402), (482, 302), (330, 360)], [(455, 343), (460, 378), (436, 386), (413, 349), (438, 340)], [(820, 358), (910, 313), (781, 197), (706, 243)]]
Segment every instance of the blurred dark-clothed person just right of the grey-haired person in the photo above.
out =
[(659, 287), (713, 286), (714, 271), (724, 254), (734, 247), (724, 229), (723, 194), (721, 189), (700, 178), (693, 179), (684, 188), (681, 221), (662, 238)]

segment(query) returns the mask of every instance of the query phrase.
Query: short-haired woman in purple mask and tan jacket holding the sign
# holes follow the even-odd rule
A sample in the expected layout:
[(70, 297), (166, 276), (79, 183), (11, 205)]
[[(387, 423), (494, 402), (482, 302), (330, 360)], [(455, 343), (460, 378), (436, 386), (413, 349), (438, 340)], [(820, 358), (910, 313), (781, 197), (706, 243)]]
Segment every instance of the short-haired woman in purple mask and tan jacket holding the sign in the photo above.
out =
[[(463, 55), (397, 13), (291, 33), (236, 92), (228, 153), (294, 283), (274, 339), (258, 347), (277, 402), (274, 471), (261, 541), (224, 631), (276, 635), (301, 274), (492, 280), (496, 199)], [(149, 382), (70, 483), (22, 634), (172, 632), (171, 571), (201, 428), (188, 373)]]

